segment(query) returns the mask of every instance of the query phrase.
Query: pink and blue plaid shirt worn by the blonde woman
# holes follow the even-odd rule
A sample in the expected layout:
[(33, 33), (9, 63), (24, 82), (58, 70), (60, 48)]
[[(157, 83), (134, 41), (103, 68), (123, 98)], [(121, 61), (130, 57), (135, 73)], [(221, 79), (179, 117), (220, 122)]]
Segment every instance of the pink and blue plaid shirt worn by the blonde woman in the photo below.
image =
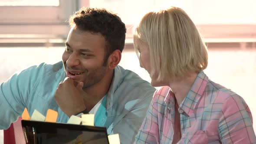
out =
[[(135, 144), (171, 144), (174, 137), (174, 93), (161, 87), (154, 93)], [(253, 144), (253, 117), (236, 93), (210, 81), (199, 72), (179, 105), (179, 144)]]

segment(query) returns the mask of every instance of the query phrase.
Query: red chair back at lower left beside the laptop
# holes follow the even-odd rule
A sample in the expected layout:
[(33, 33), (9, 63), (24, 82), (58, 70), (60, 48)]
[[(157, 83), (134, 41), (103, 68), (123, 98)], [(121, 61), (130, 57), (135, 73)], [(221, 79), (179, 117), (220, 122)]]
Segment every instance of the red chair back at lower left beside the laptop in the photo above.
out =
[(3, 130), (3, 144), (26, 144), (21, 126), (22, 118), (10, 125), (10, 128)]

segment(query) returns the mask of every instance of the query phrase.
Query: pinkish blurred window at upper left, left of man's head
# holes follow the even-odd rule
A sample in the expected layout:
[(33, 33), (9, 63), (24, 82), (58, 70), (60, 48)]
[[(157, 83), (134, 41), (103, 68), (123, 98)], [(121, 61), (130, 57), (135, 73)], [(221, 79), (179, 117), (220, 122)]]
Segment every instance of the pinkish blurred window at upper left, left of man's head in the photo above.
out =
[(74, 0), (0, 0), (0, 37), (21, 34), (66, 37), (69, 32), (66, 20), (76, 5)]

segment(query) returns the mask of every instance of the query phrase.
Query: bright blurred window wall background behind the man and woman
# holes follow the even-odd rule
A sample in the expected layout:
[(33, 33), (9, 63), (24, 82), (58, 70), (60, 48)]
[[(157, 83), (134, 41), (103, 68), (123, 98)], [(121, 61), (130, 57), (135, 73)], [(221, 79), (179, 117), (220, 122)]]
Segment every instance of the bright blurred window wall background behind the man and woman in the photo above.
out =
[(133, 49), (132, 26), (148, 10), (181, 7), (208, 45), (204, 72), (241, 95), (256, 124), (256, 0), (0, 0), (0, 83), (30, 65), (61, 61), (67, 20), (83, 6), (118, 13), (127, 27), (120, 65), (149, 82)]

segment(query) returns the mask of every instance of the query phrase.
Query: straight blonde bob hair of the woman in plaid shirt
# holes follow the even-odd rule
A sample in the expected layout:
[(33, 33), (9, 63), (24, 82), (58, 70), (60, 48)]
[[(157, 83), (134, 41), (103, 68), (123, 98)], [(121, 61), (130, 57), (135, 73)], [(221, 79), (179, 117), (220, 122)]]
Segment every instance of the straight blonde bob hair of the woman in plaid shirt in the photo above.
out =
[(137, 55), (138, 47), (148, 45), (150, 75), (156, 75), (159, 81), (182, 77), (207, 67), (207, 46), (181, 8), (146, 13), (134, 26), (133, 40)]

